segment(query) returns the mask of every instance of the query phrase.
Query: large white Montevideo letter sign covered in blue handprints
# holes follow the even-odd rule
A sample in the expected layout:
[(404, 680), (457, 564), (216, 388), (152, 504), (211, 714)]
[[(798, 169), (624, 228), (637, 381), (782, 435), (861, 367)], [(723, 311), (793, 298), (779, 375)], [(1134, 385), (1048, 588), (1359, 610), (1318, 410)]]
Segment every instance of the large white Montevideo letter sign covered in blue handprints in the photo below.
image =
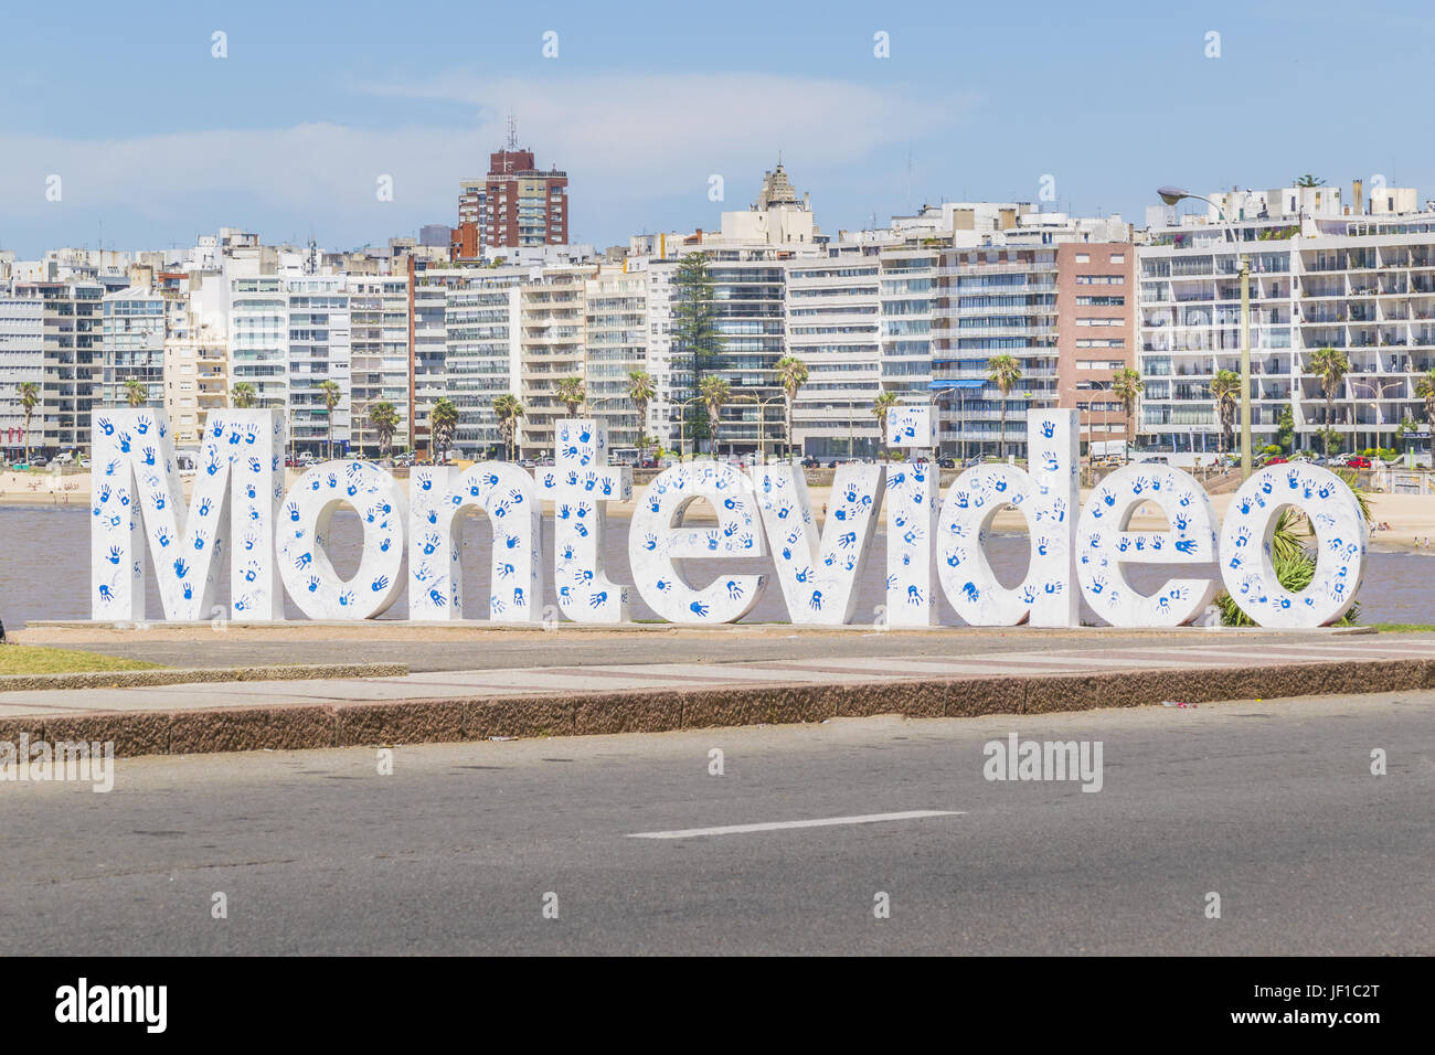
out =
[[(185, 500), (164, 418), (108, 411), (96, 415), (90, 462), (90, 611), (102, 622), (144, 622), (152, 561), (169, 622), (215, 614), (225, 564), (230, 616), (241, 622), (281, 622), (286, 594), (309, 619), (372, 619), (405, 586), (410, 620), (464, 619), (475, 606), (465, 606), (462, 593), (459, 528), (466, 514), (482, 512), (492, 527), (486, 617), (495, 623), (542, 622), (551, 574), (558, 609), (581, 623), (629, 622), (633, 590), (672, 623), (733, 622), (776, 580), (792, 623), (837, 626), (857, 619), (857, 584), (874, 558), (884, 511), (888, 626), (937, 624), (938, 590), (971, 626), (1078, 626), (1081, 596), (1114, 626), (1180, 626), (1203, 614), (1220, 583), (1191, 567), (1180, 577), (1175, 566), (1213, 563), (1261, 626), (1323, 626), (1350, 607), (1369, 534), (1339, 477), (1312, 465), (1263, 469), (1233, 495), (1218, 525), (1194, 478), (1141, 464), (1112, 472), (1082, 507), (1076, 413), (1030, 412), (1029, 469), (979, 465), (946, 494), (927, 462), (844, 465), (821, 525), (804, 475), (791, 465), (748, 472), (710, 461), (674, 465), (633, 507), (629, 586), (604, 568), (604, 540), (616, 530), (607, 505), (633, 500), (633, 472), (608, 464), (593, 421), (558, 422), (557, 464), (534, 472), (504, 462), (418, 466), (403, 487), (377, 465), (346, 461), (307, 469), (286, 492), (283, 415), (212, 411)], [(904, 422), (905, 429), (920, 438), (926, 422)], [(1131, 530), (1145, 504), (1161, 510), (1165, 530)], [(687, 518), (695, 505), (709, 514), (703, 522)], [(993, 518), (1006, 507), (1025, 514), (1030, 541), (1026, 576), (1015, 587), (997, 580), (986, 553)], [(1277, 581), (1271, 558), (1271, 533), (1289, 507), (1309, 517), (1317, 544), (1314, 576), (1302, 591)], [(349, 578), (326, 553), (342, 508), (363, 525), (359, 568)], [(723, 571), (723, 560), (769, 555), (771, 574)], [(699, 561), (712, 570), (706, 584), (690, 577)], [(1170, 564), (1177, 577), (1147, 594), (1126, 577), (1129, 564)]]

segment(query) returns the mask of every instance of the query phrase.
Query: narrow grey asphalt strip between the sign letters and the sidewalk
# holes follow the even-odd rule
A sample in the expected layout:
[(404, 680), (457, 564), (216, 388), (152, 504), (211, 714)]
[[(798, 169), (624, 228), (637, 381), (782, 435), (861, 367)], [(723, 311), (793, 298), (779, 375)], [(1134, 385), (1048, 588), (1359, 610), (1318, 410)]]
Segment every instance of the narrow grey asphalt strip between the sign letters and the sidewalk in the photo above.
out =
[[(1401, 634), (1408, 640), (1416, 634)], [(1425, 634), (1418, 634), (1424, 637)], [(950, 630), (944, 633), (841, 632), (819, 634), (804, 632), (772, 633), (715, 632), (680, 633), (504, 633), (484, 642), (379, 640), (364, 636), (354, 640), (310, 640), (296, 634), (287, 642), (245, 640), (240, 633), (205, 633), (199, 642), (164, 639), (125, 643), (75, 644), (76, 649), (105, 652), (128, 659), (142, 659), (164, 666), (264, 666), (273, 663), (408, 663), (415, 672), (491, 670), (528, 666), (601, 666), (616, 663), (752, 663), (773, 659), (822, 660), (862, 656), (941, 656), (973, 652), (1027, 652), (1030, 649), (1170, 649), (1185, 644), (1310, 644), (1303, 632), (1261, 632), (1248, 639), (1230, 632), (1208, 634), (1184, 629), (1171, 633), (1121, 633), (1118, 630)], [(1319, 640), (1319, 639), (1317, 639)], [(1349, 637), (1373, 642), (1375, 637)]]

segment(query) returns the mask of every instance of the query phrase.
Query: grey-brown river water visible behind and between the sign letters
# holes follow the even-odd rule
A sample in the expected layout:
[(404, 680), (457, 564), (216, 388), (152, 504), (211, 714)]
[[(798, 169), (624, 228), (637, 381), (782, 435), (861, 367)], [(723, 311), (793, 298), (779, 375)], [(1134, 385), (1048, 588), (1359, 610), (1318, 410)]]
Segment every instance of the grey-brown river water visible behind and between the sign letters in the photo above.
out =
[[(608, 576), (618, 583), (631, 583), (627, 558), (627, 521), (617, 517), (608, 520), (607, 568)], [(489, 576), (489, 531), (479, 517), (468, 517), (464, 527), (464, 596), (469, 609), (465, 616), (482, 619), (488, 604)], [(356, 514), (340, 511), (330, 527), (329, 553), (334, 568), (353, 574), (359, 566), (359, 544), (363, 537)], [(551, 577), (552, 520), (544, 525), (548, 566), (545, 576)], [(993, 535), (989, 551), (992, 566), (1002, 583), (1015, 586), (1026, 571), (1027, 540), (1022, 533)], [(877, 606), (884, 603), (883, 584), (887, 577), (885, 540), (878, 533), (872, 543), (872, 557), (867, 563), (865, 576), (858, 593), (858, 623), (871, 623)], [(1435, 599), (1428, 589), (1428, 576), (1435, 566), (1431, 557), (1418, 553), (1383, 551), (1372, 553), (1366, 564), (1365, 586), (1360, 590), (1362, 623), (1435, 623)], [(720, 571), (771, 573), (771, 558), (692, 561), (689, 574), (695, 583), (705, 583)], [(705, 566), (712, 568), (705, 573)], [(1144, 593), (1155, 589), (1177, 570), (1159, 566), (1132, 567), (1132, 584)], [(1180, 568), (1181, 577), (1215, 577), (1211, 564), (1192, 564)], [(545, 604), (557, 606), (554, 586), (545, 584)], [(938, 590), (940, 596), (940, 590)], [(633, 619), (656, 619), (637, 591), (631, 591)], [(218, 603), (228, 604), (228, 584), (221, 580)], [(149, 613), (159, 617), (162, 607), (154, 581), (149, 583)], [(303, 619), (298, 609), (286, 600), (290, 619)], [(399, 600), (383, 619), (403, 619), (408, 613), (408, 596)], [(9, 507), (0, 508), (0, 620), (10, 629), (19, 629), (27, 620), (39, 619), (89, 619), (89, 515), (85, 507)], [(941, 599), (941, 622), (961, 626), (961, 620)], [(1083, 622), (1098, 623), (1091, 609), (1082, 603)], [(766, 593), (745, 623), (786, 622), (788, 610), (776, 581), (771, 581)]]

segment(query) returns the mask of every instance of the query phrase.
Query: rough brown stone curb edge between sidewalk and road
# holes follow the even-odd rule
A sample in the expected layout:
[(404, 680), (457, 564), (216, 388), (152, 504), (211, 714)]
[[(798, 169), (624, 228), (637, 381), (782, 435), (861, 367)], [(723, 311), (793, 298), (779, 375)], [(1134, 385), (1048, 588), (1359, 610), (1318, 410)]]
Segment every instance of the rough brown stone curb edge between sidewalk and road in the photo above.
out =
[(1435, 660), (1340, 660), (1220, 670), (911, 679), (880, 683), (739, 685), (570, 695), (464, 696), (337, 705), (278, 703), (0, 718), (0, 741), (113, 741), (115, 754), (300, 751), (583, 736), (903, 715), (973, 718), (1435, 688)]

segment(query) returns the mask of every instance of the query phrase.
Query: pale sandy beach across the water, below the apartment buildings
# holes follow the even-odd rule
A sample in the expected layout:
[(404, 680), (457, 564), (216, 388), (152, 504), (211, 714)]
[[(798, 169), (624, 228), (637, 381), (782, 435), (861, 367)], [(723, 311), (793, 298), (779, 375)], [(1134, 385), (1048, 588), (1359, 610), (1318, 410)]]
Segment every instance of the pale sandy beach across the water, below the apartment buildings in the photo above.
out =
[[(298, 479), (298, 472), (288, 469), (286, 487)], [(185, 497), (189, 485), (185, 484)], [(634, 488), (637, 494), (641, 487)], [(811, 487), (808, 494), (812, 500), (812, 511), (818, 520), (825, 520), (827, 504), (831, 488)], [(1091, 495), (1089, 488), (1082, 488), (1082, 502)], [(1230, 494), (1211, 495), (1211, 505), (1217, 517), (1225, 515), (1230, 504)], [(0, 505), (89, 505), (90, 477), (88, 471), (66, 474), (49, 472), (0, 472)], [(1370, 534), (1370, 544), (1392, 550), (1425, 550), (1435, 554), (1435, 495), (1395, 495), (1370, 494), (1370, 505), (1378, 524), (1388, 524), (1389, 530), (1376, 530)], [(551, 512), (551, 502), (545, 502), (545, 510)], [(633, 502), (610, 502), (608, 514), (623, 520), (633, 515)], [(1026, 518), (1013, 508), (997, 514), (994, 527), (997, 531), (1025, 531)], [(1165, 518), (1154, 505), (1144, 505), (1132, 520), (1137, 530), (1161, 530)], [(1429, 540), (1429, 544), (1419, 544), (1416, 540)]]

